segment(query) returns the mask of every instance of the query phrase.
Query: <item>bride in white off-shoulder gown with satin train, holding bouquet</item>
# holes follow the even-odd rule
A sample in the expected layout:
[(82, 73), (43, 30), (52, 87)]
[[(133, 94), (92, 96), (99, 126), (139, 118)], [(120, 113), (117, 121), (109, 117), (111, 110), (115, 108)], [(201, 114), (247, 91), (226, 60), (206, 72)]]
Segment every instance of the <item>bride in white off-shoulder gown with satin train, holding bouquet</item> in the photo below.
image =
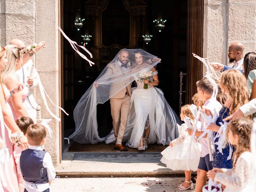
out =
[[(167, 103), (162, 91), (154, 86), (158, 85), (158, 72), (150, 67), (141, 50), (134, 53), (136, 70), (132, 70), (137, 82), (137, 88), (131, 97), (130, 113), (124, 133), (123, 142), (131, 148), (145, 150), (148, 144), (167, 145), (178, 137), (180, 120)], [(139, 73), (138, 73), (139, 72)], [(150, 74), (152, 81), (141, 81), (141, 76)], [(148, 88), (144, 89), (144, 84)], [(106, 143), (114, 142), (113, 131), (107, 136)]]

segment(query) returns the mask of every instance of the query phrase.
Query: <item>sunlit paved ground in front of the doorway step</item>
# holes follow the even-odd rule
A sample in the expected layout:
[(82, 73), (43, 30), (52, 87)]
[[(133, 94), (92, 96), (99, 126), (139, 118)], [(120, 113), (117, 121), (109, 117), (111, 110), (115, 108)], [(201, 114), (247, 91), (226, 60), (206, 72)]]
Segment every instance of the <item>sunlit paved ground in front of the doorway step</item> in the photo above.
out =
[[(56, 178), (54, 192), (180, 192), (184, 178)], [(188, 190), (194, 192), (194, 190)]]

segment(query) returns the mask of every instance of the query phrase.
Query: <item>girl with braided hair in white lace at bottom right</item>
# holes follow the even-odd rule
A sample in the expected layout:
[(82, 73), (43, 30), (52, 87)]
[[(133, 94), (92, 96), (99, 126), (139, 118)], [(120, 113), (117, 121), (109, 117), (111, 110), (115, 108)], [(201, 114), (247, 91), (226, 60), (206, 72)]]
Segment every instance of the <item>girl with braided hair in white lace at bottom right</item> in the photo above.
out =
[(248, 118), (236, 118), (229, 122), (228, 140), (236, 146), (233, 168), (213, 168), (207, 172), (208, 178), (226, 186), (223, 192), (256, 192), (256, 166), (250, 152), (252, 123)]

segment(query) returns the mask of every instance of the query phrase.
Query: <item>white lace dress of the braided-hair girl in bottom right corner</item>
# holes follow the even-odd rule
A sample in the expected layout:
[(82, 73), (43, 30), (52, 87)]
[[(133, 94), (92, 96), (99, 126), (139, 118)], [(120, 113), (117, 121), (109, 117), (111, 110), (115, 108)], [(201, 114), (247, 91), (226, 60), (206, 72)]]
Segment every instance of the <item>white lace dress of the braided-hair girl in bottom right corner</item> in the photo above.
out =
[(256, 192), (256, 162), (252, 152), (243, 152), (236, 162), (235, 169), (222, 169), (217, 173), (216, 181), (226, 186), (223, 192)]

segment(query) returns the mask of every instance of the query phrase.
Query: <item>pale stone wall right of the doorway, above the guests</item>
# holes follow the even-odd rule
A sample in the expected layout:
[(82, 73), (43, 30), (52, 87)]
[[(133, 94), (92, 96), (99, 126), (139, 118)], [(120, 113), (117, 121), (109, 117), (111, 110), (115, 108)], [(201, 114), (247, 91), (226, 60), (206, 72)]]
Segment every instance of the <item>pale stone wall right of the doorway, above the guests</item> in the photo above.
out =
[(204, 57), (228, 64), (228, 46), (256, 50), (256, 0), (204, 0)]

